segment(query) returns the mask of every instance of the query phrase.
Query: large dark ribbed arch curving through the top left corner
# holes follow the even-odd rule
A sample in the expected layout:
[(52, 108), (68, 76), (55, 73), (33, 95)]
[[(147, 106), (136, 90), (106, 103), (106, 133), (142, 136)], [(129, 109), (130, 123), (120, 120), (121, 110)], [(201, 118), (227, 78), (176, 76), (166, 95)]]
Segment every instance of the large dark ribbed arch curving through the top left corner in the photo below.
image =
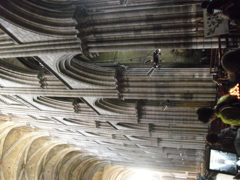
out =
[[(24, 6), (23, 6), (24, 4)], [(39, 34), (45, 34), (50, 36), (76, 36), (77, 31), (74, 29), (75, 23), (71, 20), (73, 10), (68, 13), (64, 11), (58, 11), (47, 8), (42, 8), (36, 4), (28, 1), (8, 0), (1, 3), (0, 6), (2, 17), (24, 29), (37, 32)], [(37, 14), (42, 15), (40, 18)], [(44, 16), (59, 16), (55, 19), (45, 18)], [(52, 14), (52, 15), (51, 15)], [(64, 21), (64, 16), (68, 14), (67, 21)], [(70, 15), (71, 14), (71, 15)], [(58, 18), (58, 19), (56, 19)], [(60, 22), (60, 23), (59, 23)], [(69, 23), (71, 22), (71, 23)]]

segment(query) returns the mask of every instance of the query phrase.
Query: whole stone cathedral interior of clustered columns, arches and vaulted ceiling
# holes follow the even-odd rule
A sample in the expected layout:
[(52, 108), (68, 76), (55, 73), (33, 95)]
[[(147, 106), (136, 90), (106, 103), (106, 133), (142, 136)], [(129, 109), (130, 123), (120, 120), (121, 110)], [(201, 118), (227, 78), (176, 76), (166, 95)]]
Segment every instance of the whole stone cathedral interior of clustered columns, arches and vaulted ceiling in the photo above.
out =
[(158, 179), (201, 172), (208, 127), (195, 112), (215, 100), (208, 68), (163, 66), (149, 77), (148, 67), (86, 59), (214, 48), (217, 39), (196, 31), (198, 3), (1, 0), (1, 179), (133, 180), (130, 167), (161, 172)]

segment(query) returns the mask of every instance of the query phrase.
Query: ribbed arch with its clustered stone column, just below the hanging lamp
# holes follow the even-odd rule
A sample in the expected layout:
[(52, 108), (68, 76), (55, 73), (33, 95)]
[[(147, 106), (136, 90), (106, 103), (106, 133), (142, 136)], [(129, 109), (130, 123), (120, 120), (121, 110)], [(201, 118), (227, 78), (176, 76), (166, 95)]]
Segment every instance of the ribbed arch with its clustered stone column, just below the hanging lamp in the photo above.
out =
[[(148, 68), (120, 65), (114, 70), (68, 55), (60, 58), (58, 69), (79, 83), (116, 89), (120, 99), (207, 101), (215, 97), (208, 68), (161, 68), (149, 77)], [(99, 104), (111, 109), (106, 101)]]

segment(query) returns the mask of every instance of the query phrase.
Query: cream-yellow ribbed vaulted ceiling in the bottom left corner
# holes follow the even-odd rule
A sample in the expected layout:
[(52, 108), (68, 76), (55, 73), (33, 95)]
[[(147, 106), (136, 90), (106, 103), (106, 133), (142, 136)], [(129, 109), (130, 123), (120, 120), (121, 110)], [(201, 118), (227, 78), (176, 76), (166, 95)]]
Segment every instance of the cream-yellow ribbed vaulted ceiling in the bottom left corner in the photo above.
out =
[(91, 180), (98, 169), (107, 165), (79, 148), (50, 138), (46, 131), (6, 121), (0, 129), (2, 180), (56, 179), (63, 169), (66, 173), (61, 172), (61, 177), (70, 180), (74, 177), (71, 173), (74, 167), (77, 167), (75, 177)]

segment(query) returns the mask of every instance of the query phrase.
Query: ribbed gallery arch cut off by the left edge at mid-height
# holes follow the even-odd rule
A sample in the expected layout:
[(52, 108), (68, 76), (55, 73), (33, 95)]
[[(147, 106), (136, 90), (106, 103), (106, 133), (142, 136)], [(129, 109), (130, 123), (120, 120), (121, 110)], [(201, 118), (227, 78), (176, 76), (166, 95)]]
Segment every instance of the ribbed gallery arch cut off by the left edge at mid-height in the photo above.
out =
[(65, 88), (65, 85), (59, 79), (32, 58), (11, 59), (11, 61), (15, 61), (14, 64), (7, 60), (0, 61), (0, 78), (14, 82), (14, 84), (6, 84), (7, 86)]

